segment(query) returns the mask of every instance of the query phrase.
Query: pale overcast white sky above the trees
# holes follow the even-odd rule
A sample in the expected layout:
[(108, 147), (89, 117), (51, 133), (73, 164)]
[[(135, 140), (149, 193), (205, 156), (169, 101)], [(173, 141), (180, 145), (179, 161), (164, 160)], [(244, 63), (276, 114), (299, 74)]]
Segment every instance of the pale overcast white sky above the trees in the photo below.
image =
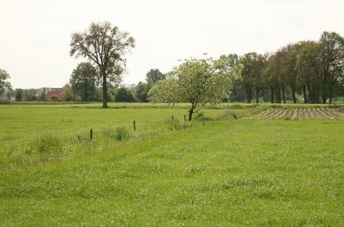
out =
[(129, 32), (122, 83), (180, 59), (273, 52), (323, 31), (344, 35), (343, 0), (0, 0), (0, 68), (14, 88), (63, 87), (85, 58), (69, 56), (73, 32), (109, 21)]

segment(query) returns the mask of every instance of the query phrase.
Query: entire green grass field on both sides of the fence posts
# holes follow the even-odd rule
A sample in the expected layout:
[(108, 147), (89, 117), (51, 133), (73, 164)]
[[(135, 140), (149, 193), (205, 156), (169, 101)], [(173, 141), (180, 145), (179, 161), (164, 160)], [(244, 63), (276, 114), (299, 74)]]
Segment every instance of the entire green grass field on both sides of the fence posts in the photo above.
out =
[[(344, 224), (343, 120), (264, 120), (271, 105), (193, 122), (184, 104), (98, 107), (0, 105), (1, 226)], [(279, 109), (305, 107), (319, 106)]]

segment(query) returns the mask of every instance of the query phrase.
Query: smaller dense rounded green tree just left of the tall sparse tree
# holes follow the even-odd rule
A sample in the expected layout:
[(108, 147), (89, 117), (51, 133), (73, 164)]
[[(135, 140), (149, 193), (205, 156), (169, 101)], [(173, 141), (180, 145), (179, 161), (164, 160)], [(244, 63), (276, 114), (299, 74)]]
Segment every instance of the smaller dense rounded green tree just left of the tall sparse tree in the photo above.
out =
[(96, 76), (96, 68), (90, 63), (79, 63), (73, 70), (69, 83), (83, 102), (88, 102), (96, 92)]

